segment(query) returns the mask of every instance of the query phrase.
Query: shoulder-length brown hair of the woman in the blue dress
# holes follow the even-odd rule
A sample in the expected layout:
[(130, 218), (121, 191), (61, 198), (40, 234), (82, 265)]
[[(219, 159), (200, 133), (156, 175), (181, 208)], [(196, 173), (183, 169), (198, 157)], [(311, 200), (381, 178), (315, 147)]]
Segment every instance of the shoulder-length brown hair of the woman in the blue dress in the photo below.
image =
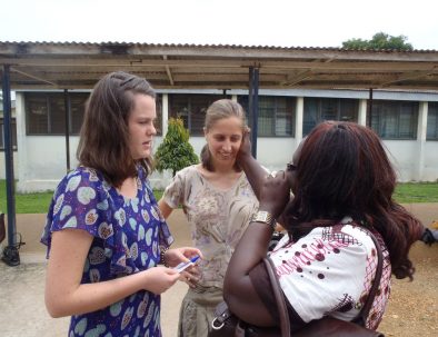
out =
[(151, 170), (151, 158), (135, 160), (129, 148), (128, 119), (135, 108), (135, 95), (156, 98), (143, 78), (123, 71), (104, 76), (87, 101), (80, 131), (79, 165), (97, 169), (116, 187), (137, 175), (138, 163), (147, 174)]

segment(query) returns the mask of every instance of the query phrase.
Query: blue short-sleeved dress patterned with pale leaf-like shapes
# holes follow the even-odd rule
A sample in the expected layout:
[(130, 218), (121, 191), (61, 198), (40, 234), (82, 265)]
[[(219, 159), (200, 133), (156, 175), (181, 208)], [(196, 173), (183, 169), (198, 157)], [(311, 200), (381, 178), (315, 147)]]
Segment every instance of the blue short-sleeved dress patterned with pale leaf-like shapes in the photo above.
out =
[[(92, 244), (81, 284), (106, 281), (157, 266), (160, 248), (173, 241), (146, 172), (126, 198), (93, 169), (79, 167), (59, 184), (41, 242), (50, 254), (51, 234), (64, 228), (88, 231)], [(103, 309), (71, 317), (69, 336), (161, 336), (160, 296), (141, 290)]]

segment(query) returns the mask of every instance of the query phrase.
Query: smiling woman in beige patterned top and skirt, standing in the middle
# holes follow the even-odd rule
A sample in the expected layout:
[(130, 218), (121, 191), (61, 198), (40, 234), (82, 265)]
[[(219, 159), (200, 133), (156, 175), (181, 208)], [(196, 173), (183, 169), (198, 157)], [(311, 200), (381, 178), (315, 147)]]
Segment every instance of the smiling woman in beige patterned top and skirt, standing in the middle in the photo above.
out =
[(199, 274), (188, 279), (179, 336), (207, 336), (215, 307), (222, 300), (228, 262), (258, 208), (257, 197), (236, 163), (246, 130), (245, 111), (238, 102), (213, 102), (206, 115), (201, 163), (180, 170), (159, 201), (165, 218), (182, 206), (193, 246), (203, 255)]

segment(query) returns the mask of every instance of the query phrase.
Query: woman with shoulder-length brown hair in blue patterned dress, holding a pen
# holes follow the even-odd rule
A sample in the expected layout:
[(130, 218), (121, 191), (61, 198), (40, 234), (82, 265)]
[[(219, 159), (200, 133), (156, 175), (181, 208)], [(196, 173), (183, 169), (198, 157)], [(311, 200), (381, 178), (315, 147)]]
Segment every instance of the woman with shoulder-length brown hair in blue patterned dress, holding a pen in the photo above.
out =
[(54, 191), (41, 241), (48, 246), (46, 306), (71, 316), (69, 336), (161, 336), (160, 294), (172, 268), (200, 255), (173, 241), (149, 185), (156, 93), (122, 71), (88, 100), (79, 166)]

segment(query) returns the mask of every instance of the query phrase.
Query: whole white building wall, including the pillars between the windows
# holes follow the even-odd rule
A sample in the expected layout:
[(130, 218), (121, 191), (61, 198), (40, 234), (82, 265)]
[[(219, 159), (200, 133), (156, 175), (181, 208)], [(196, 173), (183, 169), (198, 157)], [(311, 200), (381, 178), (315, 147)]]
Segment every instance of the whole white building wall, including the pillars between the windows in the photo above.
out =
[[(315, 91), (315, 90), (313, 90)], [(321, 92), (311, 92), (321, 95)], [(240, 91), (237, 92), (241, 95)], [(245, 93), (245, 92), (243, 92)], [(295, 92), (297, 93), (297, 92)], [(360, 92), (359, 92), (360, 93)], [(364, 93), (349, 93), (352, 98), (361, 100), (360, 109), (364, 110), (366, 97)], [(268, 95), (266, 92), (265, 95)], [(285, 95), (282, 92), (282, 95)], [(291, 95), (289, 92), (289, 95)], [(339, 95), (339, 93), (337, 93)], [(399, 95), (399, 93), (397, 93)], [(348, 96), (348, 97), (349, 97)], [(438, 100), (438, 95), (432, 98)], [(387, 98), (387, 97), (385, 97)], [(409, 97), (412, 99), (412, 97)], [(418, 98), (418, 97), (417, 97)], [(430, 99), (430, 97), (420, 97)], [(391, 99), (391, 97), (388, 97)], [(394, 99), (394, 98), (392, 98)], [(18, 152), (14, 152), (14, 176), (18, 178), (17, 190), (22, 192), (52, 190), (67, 172), (66, 138), (63, 136), (26, 136), (24, 98), (22, 93), (17, 95), (17, 140)], [(420, 100), (420, 99), (418, 99)], [(167, 107), (167, 96), (163, 96), (163, 108)], [(167, 109), (167, 108), (166, 108)], [(427, 117), (427, 109), (419, 119)], [(364, 123), (364, 111), (359, 122)], [(166, 132), (167, 111), (163, 111), (163, 130)], [(297, 99), (296, 137), (259, 137), (257, 143), (257, 159), (270, 170), (285, 169), (286, 163), (291, 160), (295, 149), (301, 139), (302, 129), (302, 97)], [(421, 125), (421, 122), (419, 122)], [(438, 141), (426, 141), (424, 130), (419, 127), (417, 140), (384, 140), (391, 161), (397, 170), (399, 181), (436, 181), (438, 179)], [(76, 148), (78, 136), (70, 137), (70, 167), (77, 166)], [(162, 137), (157, 137), (155, 149), (161, 143)], [(190, 142), (196, 153), (200, 153), (203, 137), (191, 137)], [(4, 159), (0, 158), (0, 178), (4, 179)], [(165, 188), (171, 179), (170, 172), (153, 172), (150, 177), (152, 186)]]

